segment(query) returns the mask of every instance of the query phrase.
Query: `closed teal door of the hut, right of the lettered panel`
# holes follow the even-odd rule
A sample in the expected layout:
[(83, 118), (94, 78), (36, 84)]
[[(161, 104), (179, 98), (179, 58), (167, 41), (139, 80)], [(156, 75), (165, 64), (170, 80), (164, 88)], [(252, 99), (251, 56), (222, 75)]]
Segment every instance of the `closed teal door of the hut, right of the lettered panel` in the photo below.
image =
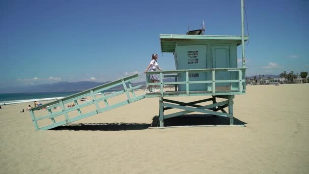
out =
[[(212, 67), (230, 68), (230, 50), (228, 45), (211, 46)], [(215, 80), (230, 80), (230, 72), (215, 72)], [(231, 83), (215, 83), (215, 91), (230, 90)]]

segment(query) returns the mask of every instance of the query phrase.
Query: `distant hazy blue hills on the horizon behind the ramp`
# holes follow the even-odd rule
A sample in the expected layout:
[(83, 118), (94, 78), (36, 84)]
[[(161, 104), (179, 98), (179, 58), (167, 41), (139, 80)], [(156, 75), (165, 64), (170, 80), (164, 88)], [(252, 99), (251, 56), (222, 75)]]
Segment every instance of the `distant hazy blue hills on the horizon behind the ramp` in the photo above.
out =
[[(173, 78), (164, 79), (164, 81), (175, 81)], [(43, 92), (79, 92), (84, 91), (96, 86), (108, 83), (106, 82), (96, 82), (96, 81), (79, 81), (79, 82), (68, 82), (61, 81), (57, 83), (50, 84), (39, 84), (34, 86), (16, 86), (10, 88), (0, 89), (0, 93), (43, 93)], [(143, 85), (142, 88), (145, 88), (146, 82), (136, 82), (132, 83), (133, 86)], [(121, 90), (122, 85), (115, 86), (111, 90)]]

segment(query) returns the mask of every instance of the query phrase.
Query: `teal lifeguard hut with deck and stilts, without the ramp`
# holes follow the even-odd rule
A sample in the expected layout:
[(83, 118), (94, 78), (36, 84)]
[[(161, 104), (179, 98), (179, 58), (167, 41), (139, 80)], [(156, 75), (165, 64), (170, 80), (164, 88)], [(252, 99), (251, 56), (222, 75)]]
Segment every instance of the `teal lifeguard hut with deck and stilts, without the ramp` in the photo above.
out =
[[(196, 31), (194, 31), (196, 32)], [(200, 32), (202, 33), (202, 32)], [(149, 93), (146, 97), (159, 97), (160, 126), (164, 120), (190, 112), (228, 117), (230, 125), (234, 124), (234, 95), (245, 93), (245, 67), (237, 67), (237, 46), (248, 40), (244, 36), (207, 36), (207, 35), (160, 35), (162, 52), (174, 54), (176, 70), (152, 71), (158, 74), (161, 93)], [(243, 45), (243, 44), (242, 44)], [(164, 78), (175, 78), (175, 82), (164, 82)], [(175, 91), (164, 92), (164, 85), (175, 85)], [(211, 98), (183, 103), (164, 97), (175, 96), (211, 96)], [(222, 102), (216, 98), (227, 99)], [(198, 103), (212, 101), (209, 105)], [(226, 112), (224, 108), (228, 107)], [(164, 110), (177, 108), (184, 111), (164, 115)], [(221, 112), (220, 112), (221, 111)]]

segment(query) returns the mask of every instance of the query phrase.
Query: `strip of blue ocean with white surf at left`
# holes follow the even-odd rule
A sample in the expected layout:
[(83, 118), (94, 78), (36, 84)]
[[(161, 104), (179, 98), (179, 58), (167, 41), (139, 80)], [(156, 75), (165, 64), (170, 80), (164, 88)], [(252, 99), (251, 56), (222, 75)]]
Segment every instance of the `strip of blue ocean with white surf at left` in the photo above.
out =
[[(112, 93), (116, 90), (106, 90), (104, 93)], [(0, 94), (0, 106), (4, 104), (16, 104), (43, 100), (58, 100), (79, 92), (49, 92), (49, 93), (11, 93)]]

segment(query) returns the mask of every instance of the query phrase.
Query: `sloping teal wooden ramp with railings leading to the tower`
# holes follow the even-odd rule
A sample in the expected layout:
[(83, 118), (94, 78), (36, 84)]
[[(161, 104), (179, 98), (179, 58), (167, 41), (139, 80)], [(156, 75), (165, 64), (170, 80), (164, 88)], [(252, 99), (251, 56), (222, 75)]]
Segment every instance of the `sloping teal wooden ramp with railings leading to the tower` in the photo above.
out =
[[(135, 74), (35, 107), (29, 110), (35, 129), (52, 129), (144, 99), (145, 95), (136, 96), (134, 93), (134, 90), (140, 88), (142, 85), (131, 85), (131, 81), (138, 78), (140, 78), (140, 76)], [(110, 94), (105, 93), (106, 90), (110, 90), (119, 85), (122, 86), (121, 91)], [(127, 95), (124, 101), (112, 104), (108, 102), (108, 99), (124, 93)]]

